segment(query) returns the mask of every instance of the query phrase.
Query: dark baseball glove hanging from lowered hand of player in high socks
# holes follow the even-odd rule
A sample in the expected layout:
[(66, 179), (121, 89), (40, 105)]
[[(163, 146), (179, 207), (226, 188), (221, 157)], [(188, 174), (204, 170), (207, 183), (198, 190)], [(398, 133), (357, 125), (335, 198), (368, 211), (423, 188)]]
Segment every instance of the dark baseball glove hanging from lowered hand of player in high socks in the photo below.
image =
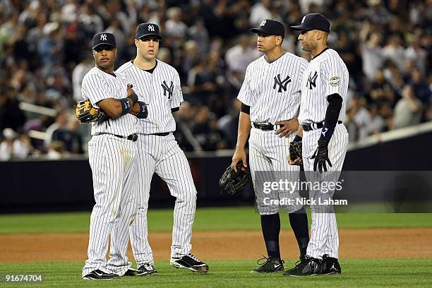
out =
[(242, 191), (249, 180), (249, 173), (246, 167), (243, 166), (243, 162), (237, 162), (236, 167), (237, 172), (230, 165), (219, 180), (219, 186), (222, 188), (222, 191), (231, 195), (236, 195), (236, 193)]

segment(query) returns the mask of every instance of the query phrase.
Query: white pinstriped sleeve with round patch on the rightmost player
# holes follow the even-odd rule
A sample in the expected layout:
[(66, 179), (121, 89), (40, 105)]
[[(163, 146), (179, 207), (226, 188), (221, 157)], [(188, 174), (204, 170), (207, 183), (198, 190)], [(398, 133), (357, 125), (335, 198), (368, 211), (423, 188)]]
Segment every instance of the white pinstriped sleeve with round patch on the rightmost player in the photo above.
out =
[(321, 81), (325, 87), (325, 97), (332, 94), (343, 95), (342, 81), (344, 75), (338, 59), (329, 58), (321, 64)]

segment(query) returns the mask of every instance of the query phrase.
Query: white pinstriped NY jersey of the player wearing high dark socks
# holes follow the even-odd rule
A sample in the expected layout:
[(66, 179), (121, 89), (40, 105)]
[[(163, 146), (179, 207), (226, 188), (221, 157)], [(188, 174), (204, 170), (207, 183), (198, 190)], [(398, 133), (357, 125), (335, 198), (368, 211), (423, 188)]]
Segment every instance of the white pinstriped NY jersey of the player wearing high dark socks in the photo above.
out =
[(264, 56), (248, 65), (239, 100), (251, 107), (251, 121), (275, 124), (299, 113), (301, 79), (308, 61), (291, 53), (268, 62)]

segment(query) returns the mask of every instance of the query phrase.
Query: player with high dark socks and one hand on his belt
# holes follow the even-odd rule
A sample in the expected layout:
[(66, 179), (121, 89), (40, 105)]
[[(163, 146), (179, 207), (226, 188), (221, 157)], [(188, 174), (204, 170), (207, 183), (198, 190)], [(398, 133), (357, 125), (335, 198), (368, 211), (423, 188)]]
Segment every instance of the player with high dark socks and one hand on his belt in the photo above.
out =
[[(307, 65), (305, 59), (282, 51), (284, 26), (275, 20), (264, 20), (259, 28), (257, 47), (264, 55), (248, 65), (244, 83), (238, 95), (241, 101), (239, 135), (232, 157), (232, 169), (241, 160), (246, 166), (244, 146), (249, 133), (249, 164), (260, 212), (261, 228), (268, 258), (259, 263), (253, 273), (284, 270), (280, 258), (279, 204), (275, 200), (295, 198), (296, 193), (263, 191), (264, 182), (289, 179), (297, 181), (299, 167), (287, 163), (289, 141), (294, 139), (299, 124), (296, 117), (300, 104), (301, 78)], [(272, 202), (270, 202), (270, 200)], [(289, 222), (299, 244), (300, 255), (306, 254), (308, 245), (308, 220), (302, 205), (284, 205), (289, 212)]]

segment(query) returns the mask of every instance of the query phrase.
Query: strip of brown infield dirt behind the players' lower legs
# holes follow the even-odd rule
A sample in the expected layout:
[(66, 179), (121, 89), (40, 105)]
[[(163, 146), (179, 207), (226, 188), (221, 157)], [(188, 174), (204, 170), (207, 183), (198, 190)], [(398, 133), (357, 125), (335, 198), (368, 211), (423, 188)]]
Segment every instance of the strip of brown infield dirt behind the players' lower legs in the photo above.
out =
[[(171, 233), (150, 232), (155, 260), (168, 260)], [(431, 258), (432, 228), (340, 229), (340, 258)], [(0, 262), (84, 261), (88, 234), (0, 234)], [(281, 232), (284, 259), (299, 257), (291, 231)], [(260, 231), (193, 232), (192, 252), (203, 260), (258, 260), (266, 255)], [(133, 261), (131, 247), (129, 260)]]

